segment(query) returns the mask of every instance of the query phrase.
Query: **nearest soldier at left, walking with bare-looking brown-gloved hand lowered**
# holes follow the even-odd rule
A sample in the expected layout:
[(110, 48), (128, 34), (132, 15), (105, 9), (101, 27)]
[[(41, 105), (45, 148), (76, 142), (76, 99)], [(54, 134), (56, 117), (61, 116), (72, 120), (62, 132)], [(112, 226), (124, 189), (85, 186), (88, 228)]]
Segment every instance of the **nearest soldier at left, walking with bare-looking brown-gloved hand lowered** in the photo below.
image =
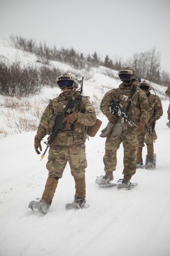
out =
[[(46, 134), (50, 134), (54, 125), (52, 117), (55, 113), (62, 114), (69, 97), (75, 95), (75, 90), (79, 87), (80, 81), (77, 76), (71, 73), (63, 74), (57, 77), (57, 85), (62, 93), (57, 98), (51, 100), (42, 114), (37, 134), (35, 136), (34, 147), (37, 154), (40, 154), (41, 140)], [(80, 112), (81, 111), (81, 112)], [(96, 113), (88, 97), (82, 96), (82, 102), (74, 105), (72, 113), (68, 114), (63, 123), (65, 128), (58, 131), (53, 143), (50, 146), (48, 154), (48, 178), (45, 184), (45, 190), (40, 202), (37, 202), (37, 208), (46, 214), (52, 203), (54, 192), (67, 162), (71, 168), (71, 175), (75, 181), (74, 203), (77, 208), (85, 206), (85, 168), (87, 167), (85, 155), (85, 140), (88, 126), (96, 122)], [(52, 125), (51, 125), (52, 123)], [(38, 150), (40, 149), (40, 151)], [(32, 201), (35, 202), (35, 201)], [(33, 209), (33, 204), (30, 203)]]

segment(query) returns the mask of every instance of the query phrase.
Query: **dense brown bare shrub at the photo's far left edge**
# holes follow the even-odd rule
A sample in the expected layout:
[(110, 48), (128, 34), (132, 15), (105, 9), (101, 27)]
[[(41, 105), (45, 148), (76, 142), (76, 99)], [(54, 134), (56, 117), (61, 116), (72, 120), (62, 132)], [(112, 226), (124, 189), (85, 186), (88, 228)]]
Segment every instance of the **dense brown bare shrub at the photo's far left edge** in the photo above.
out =
[(30, 96), (40, 92), (41, 84), (37, 68), (20, 67), (20, 62), (10, 66), (0, 62), (0, 94), (5, 96)]

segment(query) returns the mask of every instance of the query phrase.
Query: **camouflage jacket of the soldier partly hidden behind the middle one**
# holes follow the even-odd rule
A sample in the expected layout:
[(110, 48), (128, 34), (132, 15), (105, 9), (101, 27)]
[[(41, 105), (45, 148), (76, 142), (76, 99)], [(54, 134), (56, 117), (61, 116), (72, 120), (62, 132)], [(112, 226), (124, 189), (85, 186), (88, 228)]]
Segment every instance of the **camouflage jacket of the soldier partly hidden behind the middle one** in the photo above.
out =
[(163, 115), (163, 108), (162, 108), (161, 100), (160, 100), (159, 96), (154, 95), (154, 94), (150, 94), (150, 96), (147, 97), (147, 100), (148, 100), (149, 107), (150, 107), (149, 121), (153, 119), (154, 112), (155, 112), (155, 121), (156, 121), (159, 118), (161, 118), (161, 116)]

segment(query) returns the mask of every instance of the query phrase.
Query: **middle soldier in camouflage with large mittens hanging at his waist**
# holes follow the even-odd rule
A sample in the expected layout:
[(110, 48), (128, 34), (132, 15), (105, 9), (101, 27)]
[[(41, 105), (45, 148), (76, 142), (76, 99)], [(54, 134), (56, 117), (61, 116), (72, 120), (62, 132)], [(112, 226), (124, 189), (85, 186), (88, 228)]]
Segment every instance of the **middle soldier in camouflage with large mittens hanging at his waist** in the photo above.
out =
[[(122, 80), (122, 84), (119, 88), (112, 89), (105, 94), (100, 104), (102, 113), (112, 123), (116, 123), (119, 120), (119, 116), (116, 116), (110, 112), (110, 104), (113, 98), (119, 99), (122, 106), (127, 109), (128, 115), (131, 120), (138, 125), (137, 131), (142, 131), (144, 125), (149, 119), (149, 105), (146, 95), (139, 89), (139, 82), (136, 79), (136, 71), (131, 67), (126, 67), (119, 71), (119, 78)], [(127, 107), (128, 106), (128, 107)], [(137, 132), (135, 126), (130, 126), (126, 121), (127, 129), (122, 131), (119, 138), (112, 141), (110, 136), (107, 136), (105, 143), (105, 155), (103, 162), (105, 165), (105, 182), (108, 183), (113, 180), (113, 171), (116, 169), (117, 159), (116, 152), (123, 143), (124, 147), (124, 170), (122, 183), (127, 187), (130, 185), (130, 179), (136, 172), (136, 154), (138, 148)]]

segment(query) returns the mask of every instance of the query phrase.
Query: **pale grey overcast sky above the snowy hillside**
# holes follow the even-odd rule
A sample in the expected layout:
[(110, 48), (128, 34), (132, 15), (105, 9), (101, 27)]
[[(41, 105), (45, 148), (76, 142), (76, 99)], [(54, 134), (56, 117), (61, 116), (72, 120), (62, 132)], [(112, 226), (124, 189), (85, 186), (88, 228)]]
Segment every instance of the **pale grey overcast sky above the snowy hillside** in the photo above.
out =
[(170, 0), (0, 0), (0, 39), (11, 34), (124, 61), (156, 47), (170, 72)]

